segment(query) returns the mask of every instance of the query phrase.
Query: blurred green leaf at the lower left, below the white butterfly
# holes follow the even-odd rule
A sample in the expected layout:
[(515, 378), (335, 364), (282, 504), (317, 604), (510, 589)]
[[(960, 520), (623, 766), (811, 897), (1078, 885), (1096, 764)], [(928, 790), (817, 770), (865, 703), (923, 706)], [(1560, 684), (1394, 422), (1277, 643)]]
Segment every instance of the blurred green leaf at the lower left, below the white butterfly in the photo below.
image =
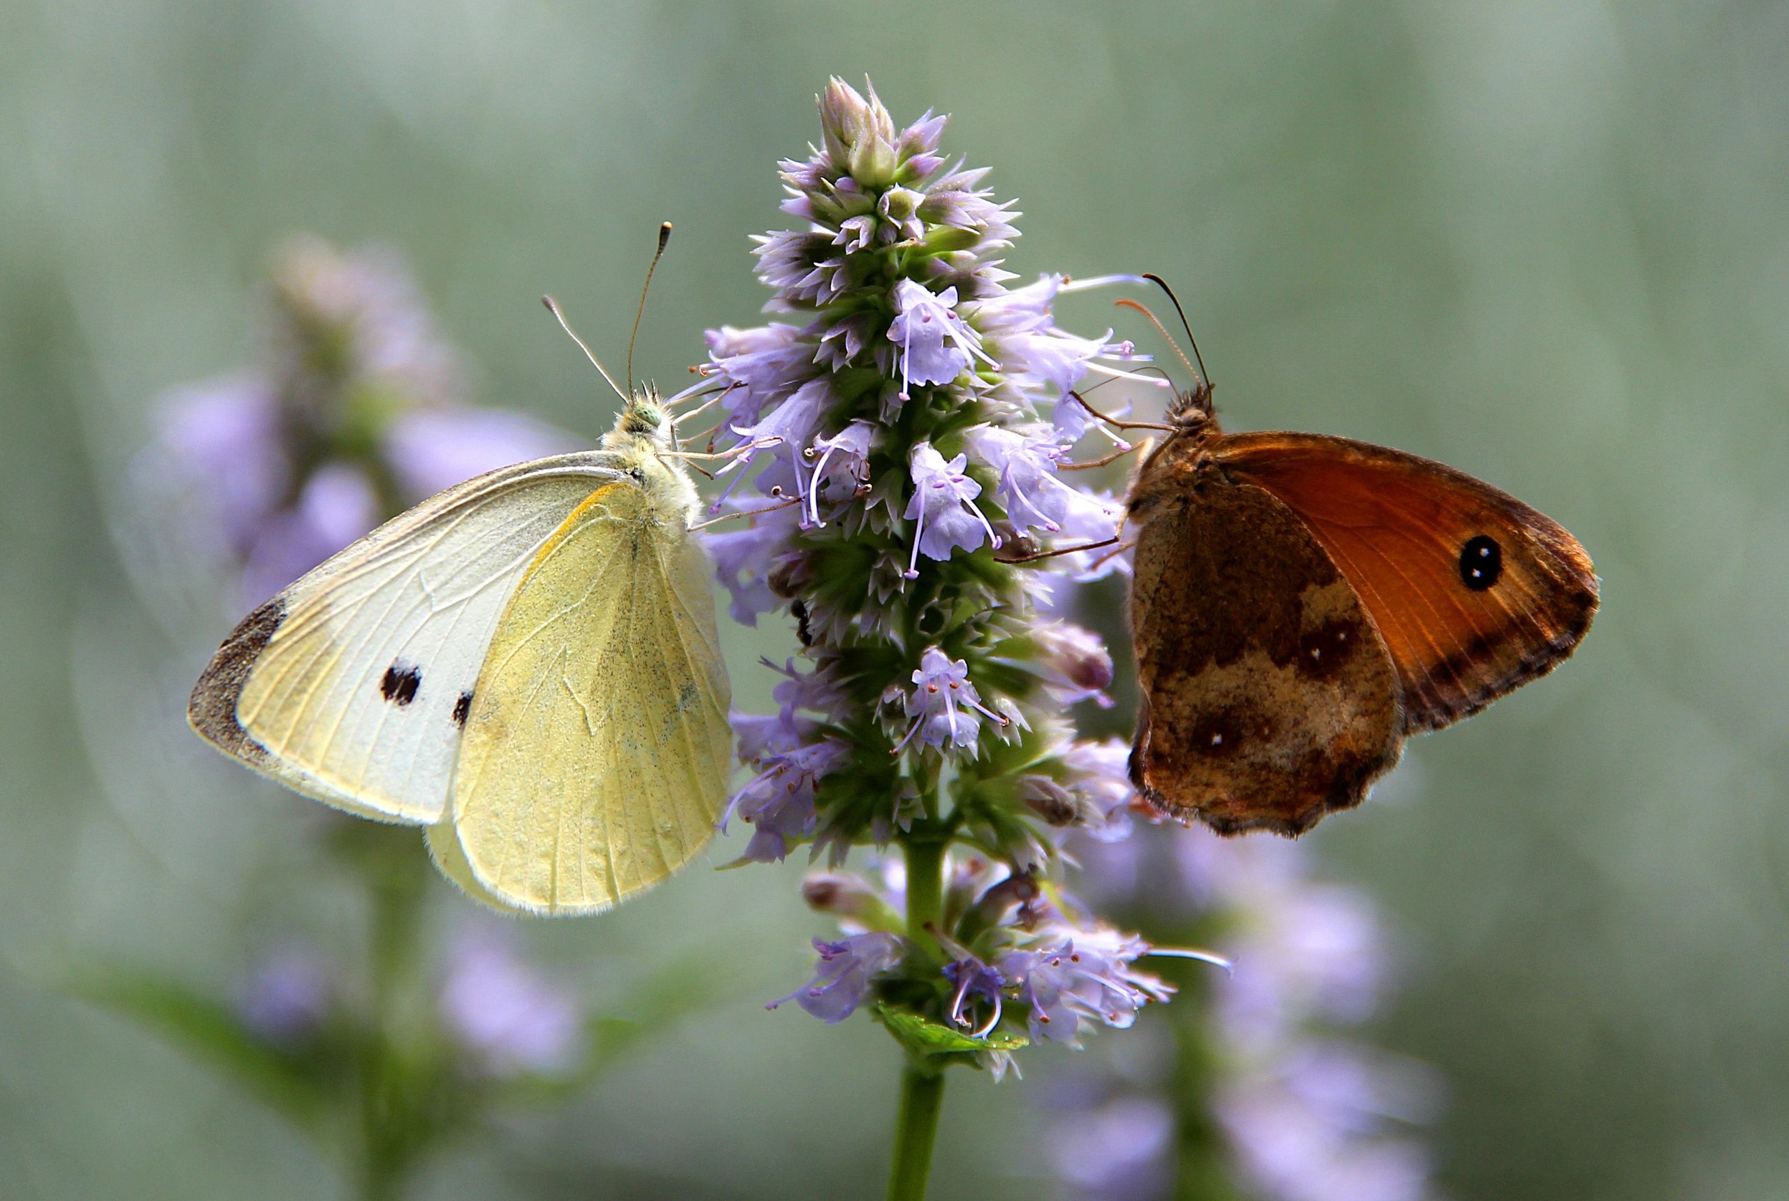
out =
[(313, 1065), (263, 1042), (236, 1013), (181, 981), (107, 965), (70, 992), (161, 1035), (309, 1131), (320, 1131), (331, 1095)]

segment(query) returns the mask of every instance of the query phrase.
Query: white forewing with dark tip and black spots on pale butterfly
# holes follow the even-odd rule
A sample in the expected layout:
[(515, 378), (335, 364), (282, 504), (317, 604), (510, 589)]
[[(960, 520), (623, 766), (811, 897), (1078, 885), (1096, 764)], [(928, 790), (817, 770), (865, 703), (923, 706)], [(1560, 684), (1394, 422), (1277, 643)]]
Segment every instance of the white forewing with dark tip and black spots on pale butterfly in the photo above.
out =
[(431, 823), (497, 619), (603, 451), (488, 473), (388, 521), (254, 610), (193, 689), (220, 750), (340, 809)]

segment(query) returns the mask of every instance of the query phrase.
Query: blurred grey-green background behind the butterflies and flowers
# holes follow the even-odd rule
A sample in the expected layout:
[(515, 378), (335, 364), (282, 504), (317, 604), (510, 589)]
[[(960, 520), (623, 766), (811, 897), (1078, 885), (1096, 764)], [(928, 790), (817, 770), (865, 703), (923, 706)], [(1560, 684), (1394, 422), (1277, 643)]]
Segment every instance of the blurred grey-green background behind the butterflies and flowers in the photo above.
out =
[[(610, 403), (538, 294), (619, 356), (674, 220), (637, 360), (685, 379), (766, 297), (746, 234), (782, 224), (812, 93), (864, 72), (1022, 199), (1011, 268), (1175, 281), (1233, 430), (1447, 460), (1594, 555), (1565, 671), (1311, 836), (1403, 938), (1376, 1038), (1447, 1079), (1444, 1190), (1789, 1197), (1789, 5), (1660, 0), (0, 5), (0, 1196), (340, 1190), (45, 986), (129, 954), (225, 990), (270, 911), (338, 916), (306, 805), (179, 721), (224, 630), (157, 625), (120, 567), (152, 397), (245, 362), (267, 252), (309, 229), (401, 249), (483, 401), (596, 435)], [(789, 635), (733, 634), (762, 700)], [(760, 1008), (823, 931), (798, 875), (524, 931), (594, 997), (698, 949), (712, 1001), (424, 1196), (878, 1181), (886, 1036)], [(1029, 1086), (954, 1085), (936, 1196), (1048, 1196)]]

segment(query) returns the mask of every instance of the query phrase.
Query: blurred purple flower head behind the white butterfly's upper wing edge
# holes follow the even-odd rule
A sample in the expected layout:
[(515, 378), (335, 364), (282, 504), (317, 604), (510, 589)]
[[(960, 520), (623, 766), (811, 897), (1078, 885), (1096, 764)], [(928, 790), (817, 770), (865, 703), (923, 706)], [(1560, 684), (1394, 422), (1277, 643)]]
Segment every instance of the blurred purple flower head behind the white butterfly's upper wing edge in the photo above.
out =
[(445, 487), (576, 447), (458, 401), (458, 360), (385, 251), (293, 242), (259, 333), (258, 367), (159, 403), (132, 476), (138, 517), (181, 539), (174, 562), (147, 566), (238, 576), (233, 609)]

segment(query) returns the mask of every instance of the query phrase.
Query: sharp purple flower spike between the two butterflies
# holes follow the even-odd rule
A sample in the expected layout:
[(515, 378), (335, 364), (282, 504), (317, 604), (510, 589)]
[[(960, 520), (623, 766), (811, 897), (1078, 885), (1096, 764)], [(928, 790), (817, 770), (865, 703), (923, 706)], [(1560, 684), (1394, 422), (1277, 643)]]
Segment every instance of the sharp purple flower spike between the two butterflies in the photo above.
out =
[[(733, 716), (751, 779), (726, 818), (753, 825), (744, 859), (807, 843), (839, 866), (894, 843), (911, 866), (936, 830), (948, 856), (973, 848), (973, 868), (943, 865), (927, 911), (945, 981), (930, 959), (902, 972), (900, 943), (877, 933), (903, 929), (896, 895), (937, 888), (932, 870), (875, 895), (834, 873), (809, 899), (848, 938), (818, 943), (814, 981), (785, 1001), (835, 1022), (896, 972), (889, 1006), (988, 1036), (975, 1058), (998, 1077), (1014, 1067), (998, 1036), (1014, 999), (1034, 1038), (1073, 1042), (1084, 1020), (1127, 1026), (1168, 995), (1132, 970), (1145, 943), (1059, 888), (1070, 830), (1118, 838), (1134, 800), (1125, 750), (1079, 741), (1070, 712), (1109, 703), (1113, 666), (1056, 619), (1057, 589), (1111, 569), (1122, 505), (1063, 471), (1091, 430), (1063, 397), (1132, 356), (1111, 331), (1057, 326), (1063, 276), (1007, 286), (1018, 215), (986, 172), (946, 163), (943, 131), (932, 113), (898, 129), (873, 93), (832, 81), (810, 156), (780, 165), (796, 227), (757, 247), (789, 324), (712, 331), (685, 396), (728, 415), (726, 489), (787, 505), (708, 535), (733, 612), (787, 605), (801, 643), (776, 712)], [(1050, 555), (979, 553), (1004, 539)]]

